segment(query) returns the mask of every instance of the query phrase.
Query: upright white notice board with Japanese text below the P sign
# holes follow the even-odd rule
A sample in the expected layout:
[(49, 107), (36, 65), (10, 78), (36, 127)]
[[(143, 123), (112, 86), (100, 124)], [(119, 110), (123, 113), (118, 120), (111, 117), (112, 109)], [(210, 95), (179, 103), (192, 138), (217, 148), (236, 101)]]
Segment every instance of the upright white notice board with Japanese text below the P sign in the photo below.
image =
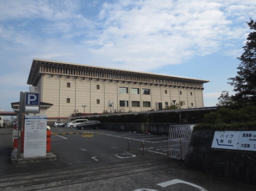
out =
[(46, 115), (26, 115), (24, 158), (46, 156)]

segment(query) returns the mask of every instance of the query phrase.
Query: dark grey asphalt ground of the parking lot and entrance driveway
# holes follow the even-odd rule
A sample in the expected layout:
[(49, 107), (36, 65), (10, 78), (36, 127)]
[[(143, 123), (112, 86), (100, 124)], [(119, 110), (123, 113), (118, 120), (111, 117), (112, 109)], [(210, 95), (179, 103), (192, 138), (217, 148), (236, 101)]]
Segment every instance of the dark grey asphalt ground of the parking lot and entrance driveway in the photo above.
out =
[(12, 135), (3, 133), (12, 129), (0, 129), (0, 190), (256, 190), (184, 168), (183, 161), (169, 158), (164, 136), (55, 127), (51, 131), (94, 135), (52, 135), (56, 161), (10, 164)]

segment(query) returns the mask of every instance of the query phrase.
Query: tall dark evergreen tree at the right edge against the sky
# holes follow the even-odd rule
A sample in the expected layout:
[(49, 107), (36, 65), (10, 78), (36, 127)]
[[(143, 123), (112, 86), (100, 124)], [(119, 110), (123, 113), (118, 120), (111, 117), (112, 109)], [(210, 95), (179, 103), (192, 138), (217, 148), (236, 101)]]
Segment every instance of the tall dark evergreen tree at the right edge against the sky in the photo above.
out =
[(251, 19), (247, 24), (253, 31), (247, 37), (244, 53), (238, 57), (241, 63), (237, 76), (228, 78), (232, 80), (228, 83), (234, 86), (234, 101), (256, 103), (256, 23)]

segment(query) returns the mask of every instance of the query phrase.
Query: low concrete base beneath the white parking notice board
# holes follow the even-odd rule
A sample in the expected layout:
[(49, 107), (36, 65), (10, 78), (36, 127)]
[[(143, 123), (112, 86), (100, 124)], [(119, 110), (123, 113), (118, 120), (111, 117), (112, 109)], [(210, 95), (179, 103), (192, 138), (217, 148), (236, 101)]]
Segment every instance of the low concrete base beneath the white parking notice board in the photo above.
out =
[(23, 153), (21, 153), (21, 158), (11, 158), (11, 164), (23, 164), (23, 163), (31, 163), (31, 162), (42, 162), (42, 161), (55, 161), (57, 156), (52, 152), (47, 152), (44, 157), (31, 157), (31, 158), (23, 158)]

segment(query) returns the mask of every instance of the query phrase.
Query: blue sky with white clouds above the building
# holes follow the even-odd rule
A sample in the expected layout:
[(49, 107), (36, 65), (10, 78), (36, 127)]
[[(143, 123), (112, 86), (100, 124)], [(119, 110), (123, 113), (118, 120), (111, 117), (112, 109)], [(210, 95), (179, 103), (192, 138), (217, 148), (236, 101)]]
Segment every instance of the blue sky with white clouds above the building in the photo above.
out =
[(33, 58), (210, 80), (215, 106), (236, 75), (251, 0), (0, 0), (0, 109), (26, 84)]

